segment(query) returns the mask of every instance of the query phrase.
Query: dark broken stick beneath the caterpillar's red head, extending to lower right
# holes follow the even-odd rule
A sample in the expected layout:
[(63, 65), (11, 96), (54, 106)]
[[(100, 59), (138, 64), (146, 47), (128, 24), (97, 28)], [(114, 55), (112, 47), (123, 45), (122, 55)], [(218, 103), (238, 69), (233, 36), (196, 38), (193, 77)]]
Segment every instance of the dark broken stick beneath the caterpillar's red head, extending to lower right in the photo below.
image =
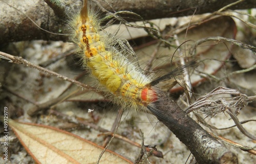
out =
[(207, 133), (166, 94), (159, 92), (158, 98), (156, 108), (148, 109), (187, 146), (198, 163), (238, 163), (235, 154)]

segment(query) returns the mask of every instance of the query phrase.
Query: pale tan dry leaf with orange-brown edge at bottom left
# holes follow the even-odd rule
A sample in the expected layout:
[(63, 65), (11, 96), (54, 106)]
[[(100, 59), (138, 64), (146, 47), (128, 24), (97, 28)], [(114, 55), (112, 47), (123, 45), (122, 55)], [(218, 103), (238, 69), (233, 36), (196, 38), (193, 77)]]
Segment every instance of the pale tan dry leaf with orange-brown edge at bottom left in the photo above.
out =
[[(37, 163), (97, 163), (103, 148), (72, 133), (54, 127), (18, 123), (9, 125), (20, 143)], [(107, 150), (99, 163), (132, 163)]]

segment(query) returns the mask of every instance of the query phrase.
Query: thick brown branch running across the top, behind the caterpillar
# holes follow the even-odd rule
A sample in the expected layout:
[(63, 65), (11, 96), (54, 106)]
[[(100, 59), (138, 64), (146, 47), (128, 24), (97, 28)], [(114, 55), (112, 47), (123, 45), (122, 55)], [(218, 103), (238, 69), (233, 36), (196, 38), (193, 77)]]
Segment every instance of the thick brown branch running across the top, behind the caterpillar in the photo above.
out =
[[(46, 2), (41, 0), (0, 1), (0, 44), (35, 39), (68, 41), (68, 35), (63, 35), (68, 34), (70, 30), (67, 26), (67, 20), (71, 16), (72, 11), (78, 11), (79, 6), (81, 6), (81, 1), (61, 0), (61, 2), (64, 10), (63, 12), (67, 14), (66, 16), (63, 16), (61, 11), (54, 12), (52, 10), (53, 7), (50, 8)], [(141, 15), (144, 19), (155, 19), (162, 17), (187, 16), (193, 14), (195, 9), (197, 9), (195, 14), (214, 12), (232, 2), (236, 2), (236, 0), (101, 0), (95, 2), (98, 2), (98, 4), (110, 12), (127, 10)], [(57, 8), (62, 9), (62, 7)], [(247, 9), (255, 7), (255, 0), (247, 0), (239, 5), (231, 7), (230, 9)], [(41, 29), (56, 34), (50, 34), (49, 32), (39, 29), (32, 20)]]

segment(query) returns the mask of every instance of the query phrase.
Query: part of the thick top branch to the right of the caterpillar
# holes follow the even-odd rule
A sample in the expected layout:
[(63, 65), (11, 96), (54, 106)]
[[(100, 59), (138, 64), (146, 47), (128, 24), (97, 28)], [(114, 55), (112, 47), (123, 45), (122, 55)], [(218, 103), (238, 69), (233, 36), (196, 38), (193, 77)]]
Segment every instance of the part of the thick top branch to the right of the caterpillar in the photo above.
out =
[[(100, 2), (104, 2), (101, 0)], [(115, 11), (133, 11), (141, 15), (144, 19), (156, 19), (163, 17), (179, 17), (195, 14), (211, 13), (221, 9), (222, 7), (237, 0), (139, 0), (139, 1), (126, 1), (126, 0), (106, 0), (110, 5), (103, 6), (106, 10), (111, 11), (111, 7)], [(256, 7), (256, 1), (247, 0), (239, 5), (235, 5), (228, 9), (250, 9)]]

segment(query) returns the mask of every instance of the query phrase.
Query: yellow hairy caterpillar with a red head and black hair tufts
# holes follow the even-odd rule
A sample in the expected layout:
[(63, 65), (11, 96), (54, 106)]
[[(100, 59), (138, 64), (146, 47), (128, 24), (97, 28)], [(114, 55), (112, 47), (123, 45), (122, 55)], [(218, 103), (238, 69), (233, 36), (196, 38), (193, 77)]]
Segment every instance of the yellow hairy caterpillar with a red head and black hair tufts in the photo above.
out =
[(153, 105), (157, 101), (158, 90), (154, 85), (181, 74), (185, 67), (194, 64), (175, 69), (153, 81), (126, 58), (125, 51), (113, 48), (112, 38), (99, 24), (97, 14), (89, 11), (87, 1), (84, 1), (80, 14), (74, 16), (70, 24), (74, 29), (72, 40), (79, 46), (83, 65), (90, 68), (92, 75), (103, 90), (110, 93), (115, 103), (122, 102), (125, 107), (136, 110), (138, 105), (142, 108)]

